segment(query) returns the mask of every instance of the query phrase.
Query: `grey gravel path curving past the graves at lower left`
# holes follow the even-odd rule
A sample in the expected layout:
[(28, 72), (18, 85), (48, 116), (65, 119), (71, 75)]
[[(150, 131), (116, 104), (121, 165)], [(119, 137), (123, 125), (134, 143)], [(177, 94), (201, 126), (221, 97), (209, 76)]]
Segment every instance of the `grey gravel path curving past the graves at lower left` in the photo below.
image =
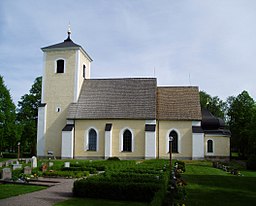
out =
[(58, 181), (45, 190), (0, 200), (0, 206), (50, 206), (72, 197), (74, 179), (51, 179)]

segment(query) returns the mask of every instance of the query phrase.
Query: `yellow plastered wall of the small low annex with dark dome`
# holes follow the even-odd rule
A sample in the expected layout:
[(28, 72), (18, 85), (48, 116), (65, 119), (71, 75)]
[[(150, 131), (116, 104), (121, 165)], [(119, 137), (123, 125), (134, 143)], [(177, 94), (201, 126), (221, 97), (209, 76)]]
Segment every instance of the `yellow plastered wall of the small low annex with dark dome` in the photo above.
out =
[[(207, 141), (213, 141), (213, 153), (207, 153)], [(230, 137), (205, 135), (205, 156), (228, 157), (230, 156)]]

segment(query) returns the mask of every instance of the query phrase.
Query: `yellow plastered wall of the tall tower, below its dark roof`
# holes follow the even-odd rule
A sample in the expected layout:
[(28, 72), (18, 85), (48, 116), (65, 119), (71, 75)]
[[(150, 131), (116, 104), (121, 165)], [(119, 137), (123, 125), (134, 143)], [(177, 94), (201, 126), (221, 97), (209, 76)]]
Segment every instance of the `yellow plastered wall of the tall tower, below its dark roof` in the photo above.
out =
[[(65, 61), (64, 73), (56, 73), (58, 59)], [(66, 49), (45, 52), (44, 65), (42, 102), (47, 104), (45, 154), (50, 150), (55, 156), (60, 156), (62, 129), (66, 125), (68, 107), (79, 96), (84, 80), (83, 65), (88, 71), (87, 78), (90, 77), (90, 61), (80, 50)]]

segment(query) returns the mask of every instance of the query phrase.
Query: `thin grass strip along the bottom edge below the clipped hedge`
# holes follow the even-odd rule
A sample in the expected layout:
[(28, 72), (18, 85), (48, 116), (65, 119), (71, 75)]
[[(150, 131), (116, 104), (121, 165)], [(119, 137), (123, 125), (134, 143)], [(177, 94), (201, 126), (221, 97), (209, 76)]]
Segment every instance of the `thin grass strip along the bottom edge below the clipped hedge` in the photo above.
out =
[(90, 198), (72, 198), (63, 202), (54, 204), (54, 206), (147, 206), (147, 203), (142, 202), (126, 202), (126, 201), (113, 201), (104, 199), (90, 199)]

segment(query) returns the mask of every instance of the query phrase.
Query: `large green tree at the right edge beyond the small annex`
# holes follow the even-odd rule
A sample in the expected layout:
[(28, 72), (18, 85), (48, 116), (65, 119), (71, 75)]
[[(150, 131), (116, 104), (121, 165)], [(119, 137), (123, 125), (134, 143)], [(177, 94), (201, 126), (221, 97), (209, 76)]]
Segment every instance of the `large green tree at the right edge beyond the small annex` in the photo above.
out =
[(228, 100), (229, 127), (232, 133), (231, 146), (238, 150), (242, 157), (255, 152), (256, 144), (256, 105), (247, 91)]

